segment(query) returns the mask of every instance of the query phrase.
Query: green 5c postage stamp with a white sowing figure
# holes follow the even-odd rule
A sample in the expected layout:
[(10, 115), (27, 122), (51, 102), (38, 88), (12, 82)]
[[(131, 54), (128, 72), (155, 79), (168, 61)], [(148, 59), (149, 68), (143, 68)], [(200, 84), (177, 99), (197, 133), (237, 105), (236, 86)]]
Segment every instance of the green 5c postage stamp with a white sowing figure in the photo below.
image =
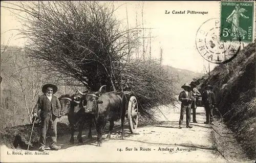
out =
[(221, 41), (252, 42), (253, 1), (221, 1)]

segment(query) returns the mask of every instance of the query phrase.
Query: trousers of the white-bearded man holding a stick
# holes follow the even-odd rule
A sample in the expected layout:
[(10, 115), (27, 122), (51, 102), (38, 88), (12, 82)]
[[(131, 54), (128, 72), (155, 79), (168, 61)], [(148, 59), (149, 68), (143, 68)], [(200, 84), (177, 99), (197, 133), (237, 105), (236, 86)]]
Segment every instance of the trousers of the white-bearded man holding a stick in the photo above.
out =
[(48, 112), (46, 118), (41, 120), (41, 132), (39, 139), (39, 144), (41, 147), (46, 147), (46, 133), (48, 130), (48, 126), (50, 126), (49, 135), (51, 137), (51, 148), (57, 143), (57, 117), (51, 112)]

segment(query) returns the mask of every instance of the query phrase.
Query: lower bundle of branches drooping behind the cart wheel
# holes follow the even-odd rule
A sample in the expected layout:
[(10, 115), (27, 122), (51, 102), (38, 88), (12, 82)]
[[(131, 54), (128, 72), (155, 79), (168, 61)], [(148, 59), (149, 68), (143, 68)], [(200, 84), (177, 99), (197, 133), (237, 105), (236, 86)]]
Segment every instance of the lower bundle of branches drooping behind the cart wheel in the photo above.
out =
[(173, 78), (158, 62), (133, 60), (122, 71), (122, 87), (131, 89), (141, 108), (141, 113), (153, 118), (151, 109), (176, 101)]

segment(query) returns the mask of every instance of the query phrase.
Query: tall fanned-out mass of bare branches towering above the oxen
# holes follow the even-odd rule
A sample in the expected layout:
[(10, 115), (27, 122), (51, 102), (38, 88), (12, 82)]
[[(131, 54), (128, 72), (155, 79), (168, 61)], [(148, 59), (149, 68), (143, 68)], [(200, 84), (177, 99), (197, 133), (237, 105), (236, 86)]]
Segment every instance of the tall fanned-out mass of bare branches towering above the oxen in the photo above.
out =
[[(73, 77), (90, 90), (96, 91), (101, 85), (116, 90), (119, 63), (132, 52), (136, 38), (132, 34), (135, 29), (120, 31), (113, 5), (94, 1), (5, 4), (8, 9), (26, 13), (17, 15), (23, 22), (19, 31), (29, 38), (28, 57), (44, 72)], [(131, 33), (129, 40), (127, 33)]]

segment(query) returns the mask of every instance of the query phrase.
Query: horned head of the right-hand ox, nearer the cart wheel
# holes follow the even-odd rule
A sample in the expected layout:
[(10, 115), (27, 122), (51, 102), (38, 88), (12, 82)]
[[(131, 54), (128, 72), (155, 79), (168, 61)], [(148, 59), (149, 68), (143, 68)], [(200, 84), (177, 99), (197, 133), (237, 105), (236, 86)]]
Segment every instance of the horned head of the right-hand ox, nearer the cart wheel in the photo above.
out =
[(99, 99), (101, 89), (105, 85), (101, 86), (98, 91), (96, 92), (87, 92), (87, 93), (82, 93), (79, 90), (79, 93), (84, 97), (83, 98), (83, 108), (84, 112), (86, 113), (94, 113), (97, 109), (98, 104), (102, 104), (103, 102)]

